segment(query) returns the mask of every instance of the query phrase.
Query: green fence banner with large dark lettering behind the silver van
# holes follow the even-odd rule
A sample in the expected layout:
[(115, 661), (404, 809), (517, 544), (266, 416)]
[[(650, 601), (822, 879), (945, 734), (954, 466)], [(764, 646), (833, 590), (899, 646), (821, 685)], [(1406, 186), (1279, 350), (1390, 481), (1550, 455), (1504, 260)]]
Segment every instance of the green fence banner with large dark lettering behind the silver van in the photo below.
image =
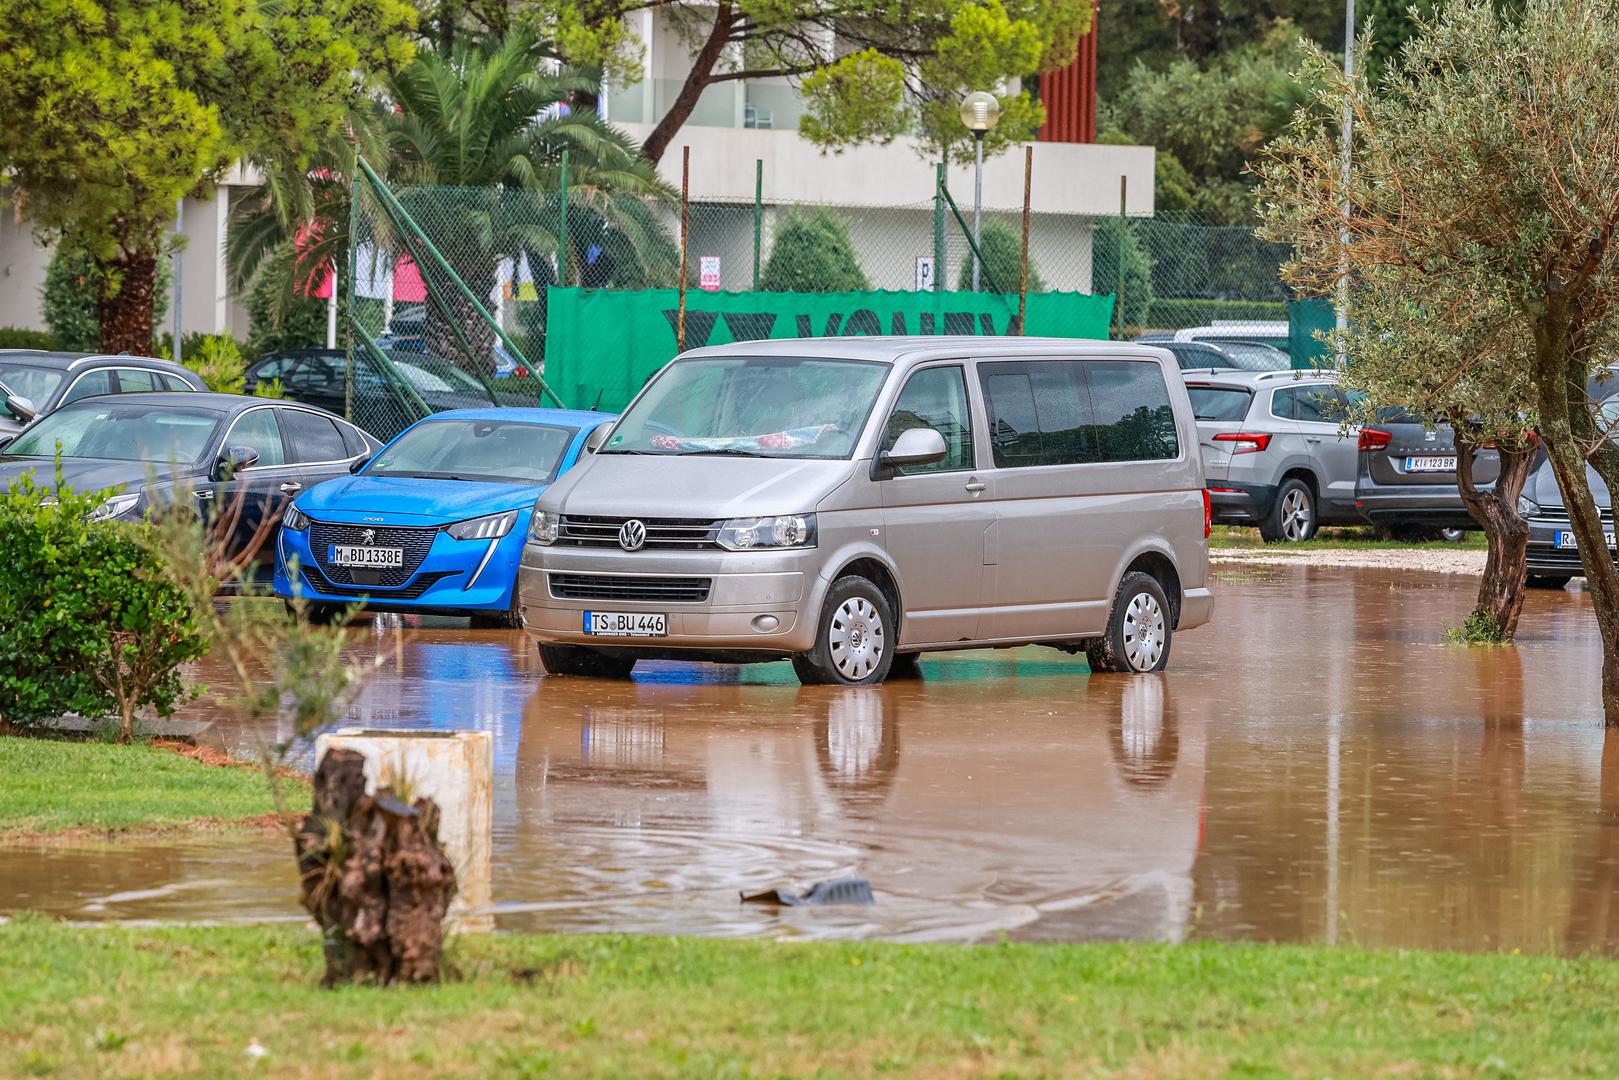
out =
[[(546, 290), (546, 382), (573, 408), (620, 410), (675, 355), (680, 293)], [(1106, 338), (1112, 296), (1030, 293), (1030, 337)], [(871, 334), (1015, 335), (999, 293), (686, 293), (686, 348)]]

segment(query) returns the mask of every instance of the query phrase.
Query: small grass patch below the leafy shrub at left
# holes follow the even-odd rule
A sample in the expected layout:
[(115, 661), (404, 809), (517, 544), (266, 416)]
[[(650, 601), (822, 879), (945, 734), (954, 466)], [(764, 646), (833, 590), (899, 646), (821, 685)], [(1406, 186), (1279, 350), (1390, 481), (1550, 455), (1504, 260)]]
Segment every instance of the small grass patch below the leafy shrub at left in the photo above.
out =
[(259, 769), (201, 764), (154, 746), (0, 737), (0, 840), (74, 827), (232, 821), (272, 810)]

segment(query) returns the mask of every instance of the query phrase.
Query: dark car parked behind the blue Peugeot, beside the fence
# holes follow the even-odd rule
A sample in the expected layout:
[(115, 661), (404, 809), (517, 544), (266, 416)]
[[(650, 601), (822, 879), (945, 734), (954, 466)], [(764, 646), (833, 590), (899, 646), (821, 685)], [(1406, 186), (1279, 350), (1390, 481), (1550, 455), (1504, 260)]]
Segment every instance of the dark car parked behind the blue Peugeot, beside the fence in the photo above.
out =
[[(395, 379), (364, 350), (355, 351), (355, 419), (379, 439), (392, 439), (427, 411), (484, 408), (489, 392), (476, 377), (450, 361), (419, 351), (387, 353)], [(348, 355), (343, 350), (303, 348), (259, 356), (246, 372), (246, 392), (259, 384), (280, 382), (282, 393), (295, 402), (346, 413), (350, 402)], [(500, 405), (533, 405), (521, 393), (497, 393)], [(421, 402), (418, 405), (418, 400)]]

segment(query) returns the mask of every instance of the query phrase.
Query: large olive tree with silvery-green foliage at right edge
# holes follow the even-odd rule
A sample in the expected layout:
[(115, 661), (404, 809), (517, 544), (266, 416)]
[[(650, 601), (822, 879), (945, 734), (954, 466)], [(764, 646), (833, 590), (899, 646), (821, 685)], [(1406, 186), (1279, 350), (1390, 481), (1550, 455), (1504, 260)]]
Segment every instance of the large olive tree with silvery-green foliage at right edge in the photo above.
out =
[(1517, 18), (1491, 0), (1449, 0), (1418, 19), (1376, 84), (1311, 50), (1302, 76), (1313, 100), (1273, 144), (1260, 198), (1264, 233), (1295, 244), (1295, 287), (1332, 295), (1349, 282), (1352, 382), (1460, 421), (1464, 445), (1496, 440), (1509, 455), (1535, 421), (1590, 581), (1609, 725), (1619, 568), (1587, 461), (1619, 491), (1619, 445), (1587, 385), (1619, 345), (1616, 53), (1619, 0), (1527, 0)]

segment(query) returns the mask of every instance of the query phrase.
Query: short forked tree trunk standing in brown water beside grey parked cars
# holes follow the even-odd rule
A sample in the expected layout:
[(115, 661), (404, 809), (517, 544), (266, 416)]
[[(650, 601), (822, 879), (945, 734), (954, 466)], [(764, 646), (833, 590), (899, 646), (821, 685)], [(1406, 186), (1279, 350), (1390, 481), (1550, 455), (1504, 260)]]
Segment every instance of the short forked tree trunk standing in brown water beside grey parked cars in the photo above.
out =
[(1501, 476), (1493, 491), (1478, 491), (1473, 481), (1473, 465), (1478, 444), (1455, 431), (1455, 478), (1462, 504), (1485, 529), (1489, 554), (1485, 557), (1485, 576), (1478, 580), (1478, 602), (1473, 612), (1496, 625), (1502, 641), (1517, 635), (1519, 615), (1523, 612), (1523, 575), (1528, 555), (1528, 521), (1517, 512), (1523, 481), (1528, 479), (1535, 452), (1530, 447), (1496, 447), (1501, 455)]

